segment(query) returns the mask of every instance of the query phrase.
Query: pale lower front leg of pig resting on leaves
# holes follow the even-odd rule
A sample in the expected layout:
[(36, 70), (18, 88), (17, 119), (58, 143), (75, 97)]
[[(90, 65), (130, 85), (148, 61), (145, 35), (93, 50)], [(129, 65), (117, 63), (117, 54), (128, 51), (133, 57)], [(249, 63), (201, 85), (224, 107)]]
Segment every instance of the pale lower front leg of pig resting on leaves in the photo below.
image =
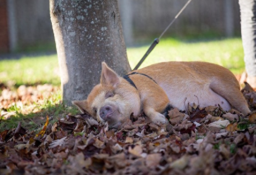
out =
[(144, 106), (144, 113), (146, 114), (149, 119), (157, 125), (163, 125), (168, 123), (168, 120), (165, 118), (163, 114), (155, 111), (154, 108)]

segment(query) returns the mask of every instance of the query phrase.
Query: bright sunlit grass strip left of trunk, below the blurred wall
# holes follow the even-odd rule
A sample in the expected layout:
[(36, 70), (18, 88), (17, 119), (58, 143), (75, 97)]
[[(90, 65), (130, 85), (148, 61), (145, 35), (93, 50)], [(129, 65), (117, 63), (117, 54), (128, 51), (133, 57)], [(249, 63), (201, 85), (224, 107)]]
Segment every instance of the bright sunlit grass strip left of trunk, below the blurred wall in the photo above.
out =
[[(56, 54), (0, 61), (0, 82), (20, 85), (60, 85)], [(10, 82), (11, 80), (11, 82)]]

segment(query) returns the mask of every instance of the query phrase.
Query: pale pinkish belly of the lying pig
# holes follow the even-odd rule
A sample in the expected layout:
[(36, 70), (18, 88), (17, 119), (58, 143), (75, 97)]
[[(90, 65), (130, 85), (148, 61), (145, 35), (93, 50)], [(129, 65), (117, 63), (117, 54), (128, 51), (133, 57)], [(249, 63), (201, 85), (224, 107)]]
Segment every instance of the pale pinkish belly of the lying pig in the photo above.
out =
[(215, 93), (210, 87), (168, 89), (165, 91), (171, 105), (181, 110), (188, 109), (189, 104), (197, 104), (200, 107), (220, 105), (225, 111), (231, 109), (229, 102), (221, 95)]

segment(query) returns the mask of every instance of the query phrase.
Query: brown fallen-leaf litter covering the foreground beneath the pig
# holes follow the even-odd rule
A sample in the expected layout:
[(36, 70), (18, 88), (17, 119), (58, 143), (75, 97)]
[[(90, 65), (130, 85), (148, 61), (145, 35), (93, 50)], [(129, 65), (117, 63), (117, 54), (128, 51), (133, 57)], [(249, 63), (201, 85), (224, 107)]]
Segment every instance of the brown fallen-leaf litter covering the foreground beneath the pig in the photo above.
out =
[[(242, 90), (251, 111), (256, 92)], [(0, 174), (256, 174), (256, 113), (220, 106), (171, 109), (157, 126), (144, 114), (114, 130), (88, 114), (68, 114), (39, 132), (22, 123), (0, 133)]]

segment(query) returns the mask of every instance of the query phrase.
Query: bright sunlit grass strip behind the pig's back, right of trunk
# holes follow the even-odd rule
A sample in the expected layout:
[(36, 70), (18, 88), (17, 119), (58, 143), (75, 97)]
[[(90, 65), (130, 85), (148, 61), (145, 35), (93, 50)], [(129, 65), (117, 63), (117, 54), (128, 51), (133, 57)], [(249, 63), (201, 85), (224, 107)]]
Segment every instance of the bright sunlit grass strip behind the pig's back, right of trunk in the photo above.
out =
[[(132, 69), (148, 48), (149, 45), (127, 49)], [(243, 47), (240, 38), (213, 41), (162, 39), (141, 67), (163, 61), (207, 61), (227, 67), (234, 74), (244, 71)]]

